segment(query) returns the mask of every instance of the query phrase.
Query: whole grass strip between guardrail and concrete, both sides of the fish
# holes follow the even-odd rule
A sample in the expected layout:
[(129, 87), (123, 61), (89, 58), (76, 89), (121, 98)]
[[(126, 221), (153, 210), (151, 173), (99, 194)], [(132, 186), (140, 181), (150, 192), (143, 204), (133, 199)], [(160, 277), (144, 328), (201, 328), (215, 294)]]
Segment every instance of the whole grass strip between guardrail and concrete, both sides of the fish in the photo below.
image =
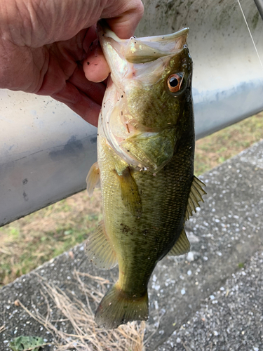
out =
[[(196, 142), (195, 174), (263, 138), (263, 113)], [(0, 228), (0, 285), (84, 241), (102, 219), (100, 192), (80, 192)]]

